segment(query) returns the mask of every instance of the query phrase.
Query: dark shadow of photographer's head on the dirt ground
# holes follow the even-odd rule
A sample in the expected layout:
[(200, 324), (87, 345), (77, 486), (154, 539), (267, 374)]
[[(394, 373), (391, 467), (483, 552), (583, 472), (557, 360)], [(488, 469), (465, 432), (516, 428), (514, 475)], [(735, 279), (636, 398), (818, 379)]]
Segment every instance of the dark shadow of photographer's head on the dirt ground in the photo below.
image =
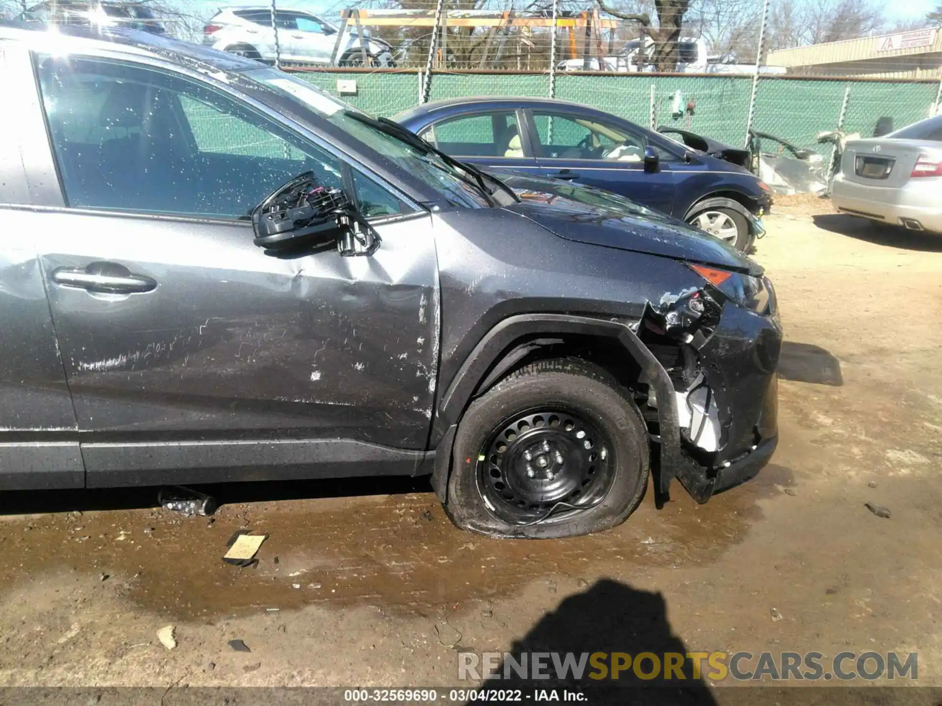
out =
[[(502, 678), (490, 679), (480, 688), (504, 690), (505, 693), (508, 689), (520, 689), (524, 701), (542, 700), (539, 698), (541, 692), (548, 696), (549, 692), (556, 690), (560, 703), (570, 700), (593, 706), (714, 706), (717, 701), (703, 679), (713, 669), (705, 658), (700, 674), (694, 677), (693, 661), (686, 659), (688, 652), (703, 650), (704, 647), (689, 648), (673, 633), (661, 594), (601, 579), (583, 593), (565, 599), (528, 634), (514, 641), (511, 649), (513, 663), (508, 664), (507, 660), (501, 663), (498, 674)], [(542, 673), (548, 674), (549, 679), (530, 679), (534, 653), (541, 652), (550, 653), (542, 658)], [(560, 663), (569, 652), (577, 662), (583, 654), (593, 657), (586, 659), (581, 678), (576, 678), (572, 670), (557, 673), (552, 658), (554, 652), (558, 654)], [(604, 652), (605, 655), (599, 657), (593, 654), (596, 652)], [(650, 655), (643, 655), (645, 652)], [(627, 662), (629, 666), (619, 669), (617, 675), (612, 674), (611, 668), (615, 653), (621, 655), (622, 666), (630, 659)], [(642, 655), (642, 660), (636, 670), (635, 662), (639, 655)], [(677, 668), (683, 678), (677, 668), (670, 678), (665, 676), (666, 655), (682, 655), (682, 666)], [(651, 656), (657, 659), (657, 663)], [(526, 678), (514, 668), (525, 659), (528, 663)], [(677, 658), (674, 660), (675, 664), (680, 663)], [(581, 694), (583, 698), (574, 698), (574, 694)]]

